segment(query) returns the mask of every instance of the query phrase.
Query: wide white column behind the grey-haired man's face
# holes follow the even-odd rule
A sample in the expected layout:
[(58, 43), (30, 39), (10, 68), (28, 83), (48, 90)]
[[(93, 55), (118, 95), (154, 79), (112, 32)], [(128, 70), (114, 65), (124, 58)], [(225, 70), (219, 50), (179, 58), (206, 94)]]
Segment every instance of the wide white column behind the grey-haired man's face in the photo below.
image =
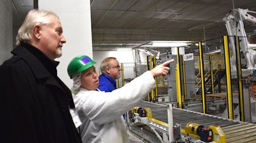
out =
[(62, 56), (56, 59), (60, 61), (58, 76), (71, 87), (73, 82), (68, 77), (68, 63), (73, 57), (82, 54), (92, 57), (90, 1), (38, 0), (38, 9), (53, 11), (60, 17), (67, 43), (62, 47)]

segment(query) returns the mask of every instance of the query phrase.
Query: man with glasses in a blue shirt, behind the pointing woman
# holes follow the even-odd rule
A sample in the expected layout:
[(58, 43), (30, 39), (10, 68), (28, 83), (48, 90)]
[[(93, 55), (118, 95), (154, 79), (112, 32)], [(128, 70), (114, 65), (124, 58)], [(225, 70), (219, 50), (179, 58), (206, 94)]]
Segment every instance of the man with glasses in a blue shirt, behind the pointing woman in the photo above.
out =
[[(100, 63), (100, 91), (111, 92), (116, 89), (116, 79), (121, 77), (121, 68), (115, 57), (107, 57)], [(125, 114), (123, 115), (125, 118)]]

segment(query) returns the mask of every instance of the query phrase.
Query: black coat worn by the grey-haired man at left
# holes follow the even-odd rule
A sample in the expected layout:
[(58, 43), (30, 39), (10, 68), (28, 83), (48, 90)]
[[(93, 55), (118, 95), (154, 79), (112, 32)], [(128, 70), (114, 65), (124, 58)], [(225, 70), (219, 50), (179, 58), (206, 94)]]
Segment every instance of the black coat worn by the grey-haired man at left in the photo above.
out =
[(72, 94), (57, 77), (58, 62), (26, 43), (12, 54), (0, 66), (1, 142), (81, 142), (69, 112)]

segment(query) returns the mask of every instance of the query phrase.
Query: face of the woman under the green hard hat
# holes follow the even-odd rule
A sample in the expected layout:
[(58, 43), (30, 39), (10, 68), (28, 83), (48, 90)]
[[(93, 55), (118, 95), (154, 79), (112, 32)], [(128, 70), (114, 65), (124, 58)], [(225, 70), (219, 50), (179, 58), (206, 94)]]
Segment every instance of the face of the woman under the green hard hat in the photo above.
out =
[(81, 73), (81, 87), (89, 91), (96, 90), (99, 87), (99, 77), (94, 66)]

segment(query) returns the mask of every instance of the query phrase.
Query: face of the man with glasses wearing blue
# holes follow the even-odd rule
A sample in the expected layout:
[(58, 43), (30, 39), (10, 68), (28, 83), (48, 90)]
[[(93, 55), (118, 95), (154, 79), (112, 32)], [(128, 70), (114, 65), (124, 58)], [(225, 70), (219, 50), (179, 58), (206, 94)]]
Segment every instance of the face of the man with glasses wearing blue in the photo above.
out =
[(109, 67), (106, 69), (108, 70), (109, 77), (112, 79), (119, 79), (121, 77), (121, 68), (119, 63), (116, 59), (113, 59), (109, 63)]

